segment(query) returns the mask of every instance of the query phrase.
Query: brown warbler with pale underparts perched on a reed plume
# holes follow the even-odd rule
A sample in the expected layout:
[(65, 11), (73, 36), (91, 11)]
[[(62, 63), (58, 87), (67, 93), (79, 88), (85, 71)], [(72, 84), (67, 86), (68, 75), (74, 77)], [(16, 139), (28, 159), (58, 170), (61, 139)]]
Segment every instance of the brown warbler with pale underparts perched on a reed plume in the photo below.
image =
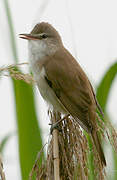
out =
[(96, 109), (102, 110), (93, 87), (77, 60), (64, 47), (58, 31), (40, 22), (28, 34), (29, 62), (40, 94), (53, 110), (70, 114), (91, 135), (101, 163), (106, 159), (96, 126)]

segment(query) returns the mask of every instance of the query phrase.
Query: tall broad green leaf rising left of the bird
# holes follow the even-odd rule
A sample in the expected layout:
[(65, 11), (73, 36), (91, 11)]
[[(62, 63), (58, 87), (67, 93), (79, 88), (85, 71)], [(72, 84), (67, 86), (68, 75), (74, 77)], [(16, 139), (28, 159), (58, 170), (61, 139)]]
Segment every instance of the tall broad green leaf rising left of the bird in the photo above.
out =
[[(7, 0), (4, 0), (8, 19), (11, 50), (14, 62), (18, 62), (13, 21)], [(19, 142), (19, 159), (22, 180), (28, 180), (38, 151), (42, 147), (41, 131), (35, 112), (33, 88), (23, 81), (13, 80)], [(40, 162), (41, 163), (41, 162)]]

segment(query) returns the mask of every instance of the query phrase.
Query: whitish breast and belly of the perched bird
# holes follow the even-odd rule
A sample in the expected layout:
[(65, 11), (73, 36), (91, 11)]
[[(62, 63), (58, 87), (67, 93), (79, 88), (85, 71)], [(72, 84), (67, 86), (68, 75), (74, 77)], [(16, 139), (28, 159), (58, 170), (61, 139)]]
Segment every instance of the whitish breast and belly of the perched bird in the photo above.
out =
[(45, 79), (47, 75), (43, 66), (43, 59), (45, 57), (45, 54), (41, 46), (44, 50), (45, 46), (43, 44), (40, 45), (39, 49), (37, 49), (37, 44), (29, 44), (29, 61), (34, 79), (37, 83), (40, 94), (50, 105), (50, 107), (52, 107), (54, 110), (66, 114), (63, 105), (59, 102), (59, 99), (57, 98), (53, 89), (49, 86)]

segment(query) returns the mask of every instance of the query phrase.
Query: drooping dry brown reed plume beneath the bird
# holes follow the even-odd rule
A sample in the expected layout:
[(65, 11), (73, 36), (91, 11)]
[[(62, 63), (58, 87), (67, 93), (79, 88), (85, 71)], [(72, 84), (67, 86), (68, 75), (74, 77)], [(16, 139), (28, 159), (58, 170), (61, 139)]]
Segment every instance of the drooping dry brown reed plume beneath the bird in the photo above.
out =
[[(100, 127), (98, 128), (100, 129)], [(94, 155), (95, 180), (104, 180), (106, 174), (96, 148), (92, 143), (92, 149), (89, 149), (87, 138), (78, 123), (69, 116), (59, 122), (59, 129), (60, 180), (88, 180), (90, 174), (88, 156), (90, 153)], [(39, 179), (41, 180), (54, 180), (52, 138), (48, 143), (47, 159), (40, 168), (40, 175)]]

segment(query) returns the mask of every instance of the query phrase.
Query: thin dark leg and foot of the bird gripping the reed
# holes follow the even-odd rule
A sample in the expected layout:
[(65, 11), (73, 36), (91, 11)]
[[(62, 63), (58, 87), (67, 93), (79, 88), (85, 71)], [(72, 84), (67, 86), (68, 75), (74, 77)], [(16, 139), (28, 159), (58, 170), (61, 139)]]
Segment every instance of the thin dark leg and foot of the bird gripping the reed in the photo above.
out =
[(66, 115), (64, 118), (58, 120), (57, 122), (55, 123), (50, 123), (49, 125), (51, 125), (51, 128), (50, 128), (50, 134), (52, 134), (53, 130), (54, 129), (57, 129), (58, 131), (61, 131), (60, 127), (59, 127), (59, 123), (64, 121), (65, 119), (67, 119), (68, 117), (70, 116), (70, 114)]

